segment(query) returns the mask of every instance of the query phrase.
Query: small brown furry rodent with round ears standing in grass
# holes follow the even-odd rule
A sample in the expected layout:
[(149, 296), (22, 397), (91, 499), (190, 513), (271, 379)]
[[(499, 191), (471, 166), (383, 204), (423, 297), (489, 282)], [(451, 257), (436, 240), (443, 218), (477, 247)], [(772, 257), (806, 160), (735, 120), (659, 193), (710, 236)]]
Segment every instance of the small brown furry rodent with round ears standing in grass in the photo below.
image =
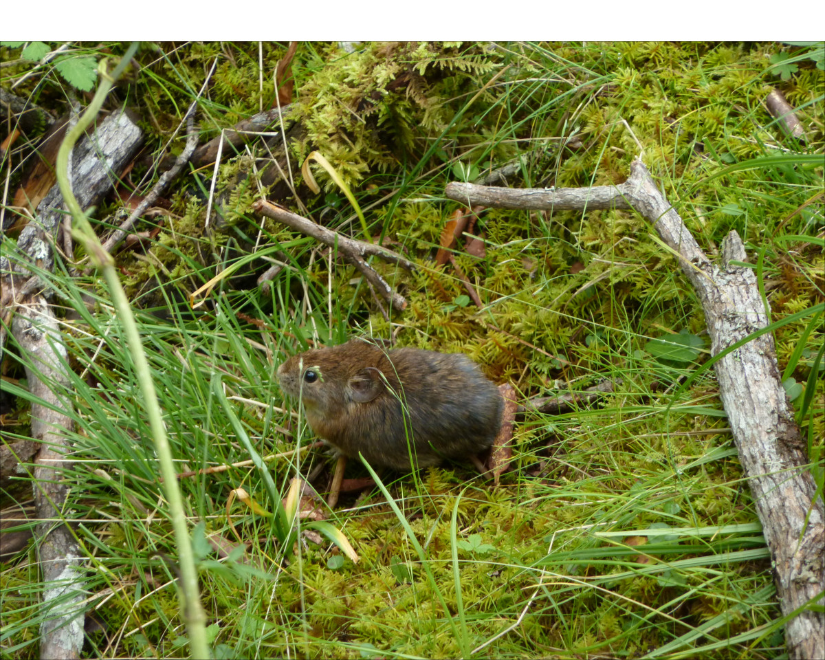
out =
[(461, 353), (351, 339), (290, 357), (278, 380), (318, 436), (373, 467), (409, 470), (410, 450), (417, 467), (466, 458), (491, 446), (502, 422), (498, 388)]

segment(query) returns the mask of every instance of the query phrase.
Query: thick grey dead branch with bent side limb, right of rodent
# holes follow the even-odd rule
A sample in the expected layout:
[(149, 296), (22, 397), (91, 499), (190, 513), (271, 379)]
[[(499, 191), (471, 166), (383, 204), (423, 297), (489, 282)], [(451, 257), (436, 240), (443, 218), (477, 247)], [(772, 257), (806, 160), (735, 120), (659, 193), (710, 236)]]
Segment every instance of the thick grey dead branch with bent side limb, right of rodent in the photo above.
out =
[[(450, 183), (446, 196), (466, 205), (508, 209), (584, 210), (633, 208), (655, 225), (679, 256), (699, 295), (715, 355), (768, 325), (754, 272), (738, 233), (728, 233), (722, 265), (711, 263), (679, 214), (658, 190), (641, 161), (618, 186), (559, 190), (509, 190)], [(764, 334), (714, 365), (742, 469), (747, 475), (765, 540), (771, 550), (783, 615), (825, 591), (825, 515), (814, 501), (816, 484), (794, 411), (782, 387), (773, 335)], [(825, 614), (804, 610), (785, 626), (790, 658), (825, 658)]]

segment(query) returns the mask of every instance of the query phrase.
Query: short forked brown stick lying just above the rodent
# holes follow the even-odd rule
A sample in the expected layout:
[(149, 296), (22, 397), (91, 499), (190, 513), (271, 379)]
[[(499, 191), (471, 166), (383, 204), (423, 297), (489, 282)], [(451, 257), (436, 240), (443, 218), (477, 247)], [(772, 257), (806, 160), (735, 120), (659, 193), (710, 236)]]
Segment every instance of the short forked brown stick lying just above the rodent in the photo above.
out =
[(252, 210), (256, 213), (266, 215), (267, 218), (278, 220), (278, 222), (285, 224), (290, 229), (295, 229), (295, 231), (314, 238), (318, 243), (323, 243), (328, 247), (332, 247), (332, 249), (337, 249), (338, 252), (341, 252), (344, 257), (361, 271), (366, 281), (375, 286), (394, 309), (400, 312), (407, 307), (407, 301), (403, 298), (403, 295), (394, 291), (387, 281), (364, 261), (364, 257), (380, 257), (384, 259), (385, 262), (392, 262), (408, 271), (414, 271), (415, 266), (413, 262), (408, 262), (408, 260), (404, 259), (398, 252), (393, 252), (386, 247), (375, 245), (374, 243), (364, 243), (355, 238), (342, 236), (340, 233), (333, 232), (332, 229), (327, 229), (320, 224), (315, 224), (312, 220), (294, 214), (266, 200), (257, 200), (254, 202), (252, 204)]

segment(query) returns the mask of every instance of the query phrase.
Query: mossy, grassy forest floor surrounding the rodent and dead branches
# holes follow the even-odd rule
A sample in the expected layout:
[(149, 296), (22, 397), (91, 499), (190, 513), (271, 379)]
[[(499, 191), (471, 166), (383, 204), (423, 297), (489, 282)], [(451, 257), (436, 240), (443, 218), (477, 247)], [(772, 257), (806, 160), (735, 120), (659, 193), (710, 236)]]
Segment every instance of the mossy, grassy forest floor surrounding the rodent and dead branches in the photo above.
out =
[[(45, 135), (128, 45), (50, 57), (58, 46), (0, 46), (0, 86), (41, 113), (24, 126), (3, 103), (4, 255), (54, 184)], [(186, 148), (195, 103), (199, 148), (111, 252), (176, 469), (195, 473), (178, 481), (214, 657), (783, 657), (770, 553), (713, 371), (680, 387), (709, 342), (672, 251), (631, 210), (468, 210), (445, 187), (606, 186), (640, 158), (711, 258), (736, 229), (821, 488), (825, 324), (781, 321), (825, 300), (823, 69), (821, 42), (141, 45), (104, 110), (125, 109), (143, 147), (92, 223), (105, 241), (145, 199)], [(775, 92), (795, 133), (771, 114)], [(255, 213), (262, 198), (403, 254), (415, 271), (368, 260), (403, 309), (334, 248)], [(40, 279), (68, 350), (60, 515), (84, 566), (82, 655), (187, 657), (134, 359), (110, 289), (67, 243), (54, 238)], [(353, 336), (463, 352), (521, 405), (612, 392), (519, 413), (498, 483), (447, 463), (376, 484), (351, 460), (329, 508), (334, 461), (289, 453), (316, 438), (276, 369)], [(7, 444), (31, 436), (23, 354), (9, 334)], [(285, 455), (199, 473), (251, 453)], [(31, 502), (31, 468), (0, 483), (10, 520)], [(310, 474), (321, 497), (290, 499)], [(287, 529), (290, 502), (303, 517)], [(45, 587), (33, 542), (2, 555), (3, 658), (39, 657)]]

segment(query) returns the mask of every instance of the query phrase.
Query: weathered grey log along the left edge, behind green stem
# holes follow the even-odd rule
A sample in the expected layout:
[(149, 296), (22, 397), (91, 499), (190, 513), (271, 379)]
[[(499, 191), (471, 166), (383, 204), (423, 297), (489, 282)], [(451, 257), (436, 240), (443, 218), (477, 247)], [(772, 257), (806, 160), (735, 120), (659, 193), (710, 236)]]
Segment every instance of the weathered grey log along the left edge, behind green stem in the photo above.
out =
[[(114, 113), (87, 135), (72, 153), (70, 178), (82, 208), (97, 205), (111, 191), (117, 173), (134, 158), (143, 136), (125, 113)], [(68, 351), (45, 296), (45, 284), (35, 275), (54, 268), (58, 228), (64, 219), (64, 200), (54, 185), (37, 207), (35, 219), (21, 232), (16, 251), (0, 257), (2, 304), (14, 309), (12, 333), (31, 394), (31, 435), (40, 442), (35, 459), (34, 497), (45, 617), (40, 625), (40, 658), (78, 658), (83, 644), (85, 598), (82, 554), (61, 513), (68, 487), (61, 477), (68, 433), (72, 431), (68, 390)], [(28, 277), (25, 284), (21, 284)], [(3, 329), (9, 314), (3, 314)], [(3, 337), (5, 338), (5, 337)], [(0, 343), (2, 348), (2, 343)]]

